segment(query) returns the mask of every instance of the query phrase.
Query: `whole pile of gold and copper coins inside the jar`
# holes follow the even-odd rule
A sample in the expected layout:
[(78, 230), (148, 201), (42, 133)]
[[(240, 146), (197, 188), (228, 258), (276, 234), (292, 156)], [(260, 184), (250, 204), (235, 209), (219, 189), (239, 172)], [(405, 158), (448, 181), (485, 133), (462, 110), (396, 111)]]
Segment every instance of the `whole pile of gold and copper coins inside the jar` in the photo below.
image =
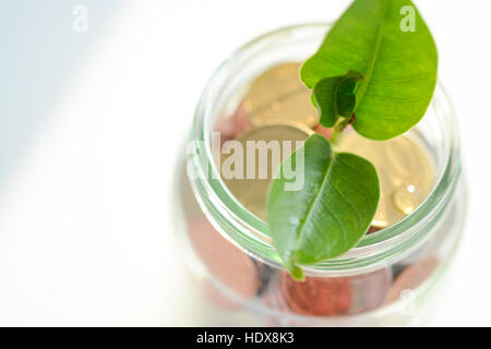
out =
[[(221, 146), (230, 140), (243, 145), (248, 141), (304, 141), (314, 132), (331, 136), (331, 130), (319, 124), (319, 113), (310, 101), (311, 92), (299, 79), (299, 68), (300, 63), (282, 63), (253, 81), (235, 112), (215, 127), (220, 132)], [(378, 170), (381, 201), (368, 233), (390, 227), (410, 214), (434, 184), (433, 165), (427, 152), (409, 135), (375, 142), (348, 128), (336, 151), (362, 156)], [(288, 155), (283, 154), (282, 160)], [(219, 152), (221, 161), (227, 156), (230, 154)], [(274, 173), (274, 169), (268, 173)], [(223, 180), (238, 202), (267, 221), (270, 177)], [(202, 282), (203, 292), (216, 306), (230, 311), (255, 299), (280, 313), (360, 314), (393, 302), (405, 289), (418, 287), (438, 266), (436, 258), (428, 257), (358, 276), (307, 277), (306, 281), (298, 282), (287, 273), (249, 257), (223, 238), (204, 216), (193, 215), (189, 237), (213, 276), (213, 280)], [(228, 297), (231, 293), (233, 297)]]

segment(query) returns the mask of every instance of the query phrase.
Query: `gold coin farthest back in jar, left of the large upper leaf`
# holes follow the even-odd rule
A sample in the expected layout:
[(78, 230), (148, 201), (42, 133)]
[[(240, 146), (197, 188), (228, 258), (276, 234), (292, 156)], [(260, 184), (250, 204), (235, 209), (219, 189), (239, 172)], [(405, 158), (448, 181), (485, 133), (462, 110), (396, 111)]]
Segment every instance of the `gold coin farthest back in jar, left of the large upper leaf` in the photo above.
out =
[(252, 125), (295, 122), (313, 128), (319, 123), (311, 92), (300, 81), (299, 70), (300, 63), (283, 63), (253, 82), (243, 100)]

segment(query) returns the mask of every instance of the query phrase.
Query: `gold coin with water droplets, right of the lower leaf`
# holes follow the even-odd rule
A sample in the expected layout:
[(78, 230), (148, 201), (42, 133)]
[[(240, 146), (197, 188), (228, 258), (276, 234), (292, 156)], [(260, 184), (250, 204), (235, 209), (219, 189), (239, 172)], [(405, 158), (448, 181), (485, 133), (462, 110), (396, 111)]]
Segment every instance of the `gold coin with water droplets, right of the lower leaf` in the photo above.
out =
[(376, 142), (347, 130), (336, 151), (354, 153), (375, 166), (381, 186), (380, 204), (372, 222), (375, 227), (388, 227), (409, 215), (434, 184), (429, 156), (406, 135)]

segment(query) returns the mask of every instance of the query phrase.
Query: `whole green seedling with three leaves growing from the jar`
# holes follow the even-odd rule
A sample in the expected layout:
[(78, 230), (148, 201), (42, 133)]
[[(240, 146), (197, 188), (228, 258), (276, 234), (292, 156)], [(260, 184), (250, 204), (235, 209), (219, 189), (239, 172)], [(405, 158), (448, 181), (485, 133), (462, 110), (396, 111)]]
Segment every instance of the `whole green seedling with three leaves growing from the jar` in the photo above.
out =
[[(417, 31), (400, 29), (400, 9), (415, 9)], [(267, 219), (273, 243), (289, 273), (343, 255), (357, 245), (375, 215), (380, 182), (374, 166), (336, 152), (350, 124), (369, 140), (394, 139), (424, 116), (436, 84), (433, 38), (409, 0), (356, 0), (300, 70), (311, 88), (321, 124), (333, 128), (302, 146), (304, 185), (285, 191), (279, 176), (268, 190)], [(283, 166), (295, 168), (295, 153)], [(279, 173), (282, 173), (279, 169)]]

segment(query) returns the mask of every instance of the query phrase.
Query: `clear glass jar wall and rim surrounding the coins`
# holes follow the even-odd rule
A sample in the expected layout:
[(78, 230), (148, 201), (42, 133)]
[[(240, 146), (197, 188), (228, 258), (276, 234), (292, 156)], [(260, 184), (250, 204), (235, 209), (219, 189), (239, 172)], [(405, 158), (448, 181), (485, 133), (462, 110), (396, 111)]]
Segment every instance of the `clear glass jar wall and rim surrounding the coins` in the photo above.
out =
[[(409, 131), (429, 154), (435, 184), (412, 213), (366, 236), (347, 254), (284, 272), (268, 226), (228, 191), (213, 160), (212, 131), (233, 113), (254, 77), (311, 56), (330, 29), (308, 24), (267, 33), (217, 70), (197, 105), (176, 182), (178, 240), (199, 299), (196, 324), (217, 326), (383, 326), (419, 323), (457, 248), (465, 213), (458, 132), (439, 84), (422, 121)], [(430, 292), (433, 290), (434, 292)]]

